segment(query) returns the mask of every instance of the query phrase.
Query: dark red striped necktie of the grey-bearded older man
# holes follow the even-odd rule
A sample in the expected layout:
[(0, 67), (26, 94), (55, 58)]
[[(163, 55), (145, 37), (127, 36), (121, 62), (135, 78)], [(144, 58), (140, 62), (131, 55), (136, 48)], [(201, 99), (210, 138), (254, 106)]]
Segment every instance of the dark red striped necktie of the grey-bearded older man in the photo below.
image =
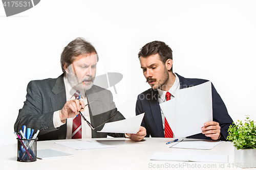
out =
[[(76, 91), (74, 96), (76, 99), (79, 98), (79, 91)], [(72, 127), (72, 139), (81, 139), (82, 138), (82, 125), (81, 125), (81, 115), (73, 117), (73, 127)]]

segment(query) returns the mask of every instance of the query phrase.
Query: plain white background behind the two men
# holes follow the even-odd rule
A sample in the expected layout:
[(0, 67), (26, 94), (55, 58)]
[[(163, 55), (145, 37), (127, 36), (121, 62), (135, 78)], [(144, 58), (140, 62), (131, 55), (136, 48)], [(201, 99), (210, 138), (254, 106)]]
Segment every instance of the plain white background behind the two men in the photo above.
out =
[(0, 145), (16, 143), (18, 109), (31, 80), (56, 78), (60, 53), (76, 37), (99, 53), (97, 75), (120, 72), (109, 88), (118, 110), (135, 115), (145, 83), (137, 54), (160, 40), (173, 50), (174, 72), (214, 83), (234, 121), (255, 107), (256, 1), (41, 1), (6, 17), (0, 5)]

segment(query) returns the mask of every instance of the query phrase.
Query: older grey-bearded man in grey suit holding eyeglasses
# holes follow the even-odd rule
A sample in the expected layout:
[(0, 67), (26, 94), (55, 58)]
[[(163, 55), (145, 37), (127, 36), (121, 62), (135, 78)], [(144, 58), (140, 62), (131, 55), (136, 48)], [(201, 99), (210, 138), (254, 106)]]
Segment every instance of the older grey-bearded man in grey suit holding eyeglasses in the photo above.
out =
[[(17, 132), (23, 125), (39, 129), (38, 140), (124, 137), (120, 133), (97, 132), (105, 122), (124, 119), (115, 107), (112, 93), (93, 85), (98, 59), (91, 43), (83, 38), (71, 41), (61, 54), (63, 74), (28, 84), (14, 130)], [(145, 132), (131, 135), (134, 140), (144, 136)]]

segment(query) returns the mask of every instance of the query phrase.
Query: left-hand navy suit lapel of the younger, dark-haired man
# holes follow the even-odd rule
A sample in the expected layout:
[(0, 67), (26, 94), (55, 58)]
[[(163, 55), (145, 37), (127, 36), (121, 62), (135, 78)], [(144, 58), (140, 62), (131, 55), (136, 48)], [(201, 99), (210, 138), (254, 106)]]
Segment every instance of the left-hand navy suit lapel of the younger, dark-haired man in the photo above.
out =
[(148, 101), (150, 103), (151, 113), (156, 124), (159, 136), (164, 136), (161, 109), (158, 102), (158, 90), (151, 89), (151, 94), (152, 100)]

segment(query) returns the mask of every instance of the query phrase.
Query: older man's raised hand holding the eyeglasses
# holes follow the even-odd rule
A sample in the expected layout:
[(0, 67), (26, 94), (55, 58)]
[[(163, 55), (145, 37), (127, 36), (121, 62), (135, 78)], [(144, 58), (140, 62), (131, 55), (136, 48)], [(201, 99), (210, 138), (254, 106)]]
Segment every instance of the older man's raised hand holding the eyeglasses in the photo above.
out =
[[(80, 107), (81, 105), (81, 107)], [(67, 101), (63, 108), (59, 111), (59, 118), (62, 123), (66, 123), (66, 119), (75, 117), (79, 111), (83, 111), (84, 103), (79, 100)]]

